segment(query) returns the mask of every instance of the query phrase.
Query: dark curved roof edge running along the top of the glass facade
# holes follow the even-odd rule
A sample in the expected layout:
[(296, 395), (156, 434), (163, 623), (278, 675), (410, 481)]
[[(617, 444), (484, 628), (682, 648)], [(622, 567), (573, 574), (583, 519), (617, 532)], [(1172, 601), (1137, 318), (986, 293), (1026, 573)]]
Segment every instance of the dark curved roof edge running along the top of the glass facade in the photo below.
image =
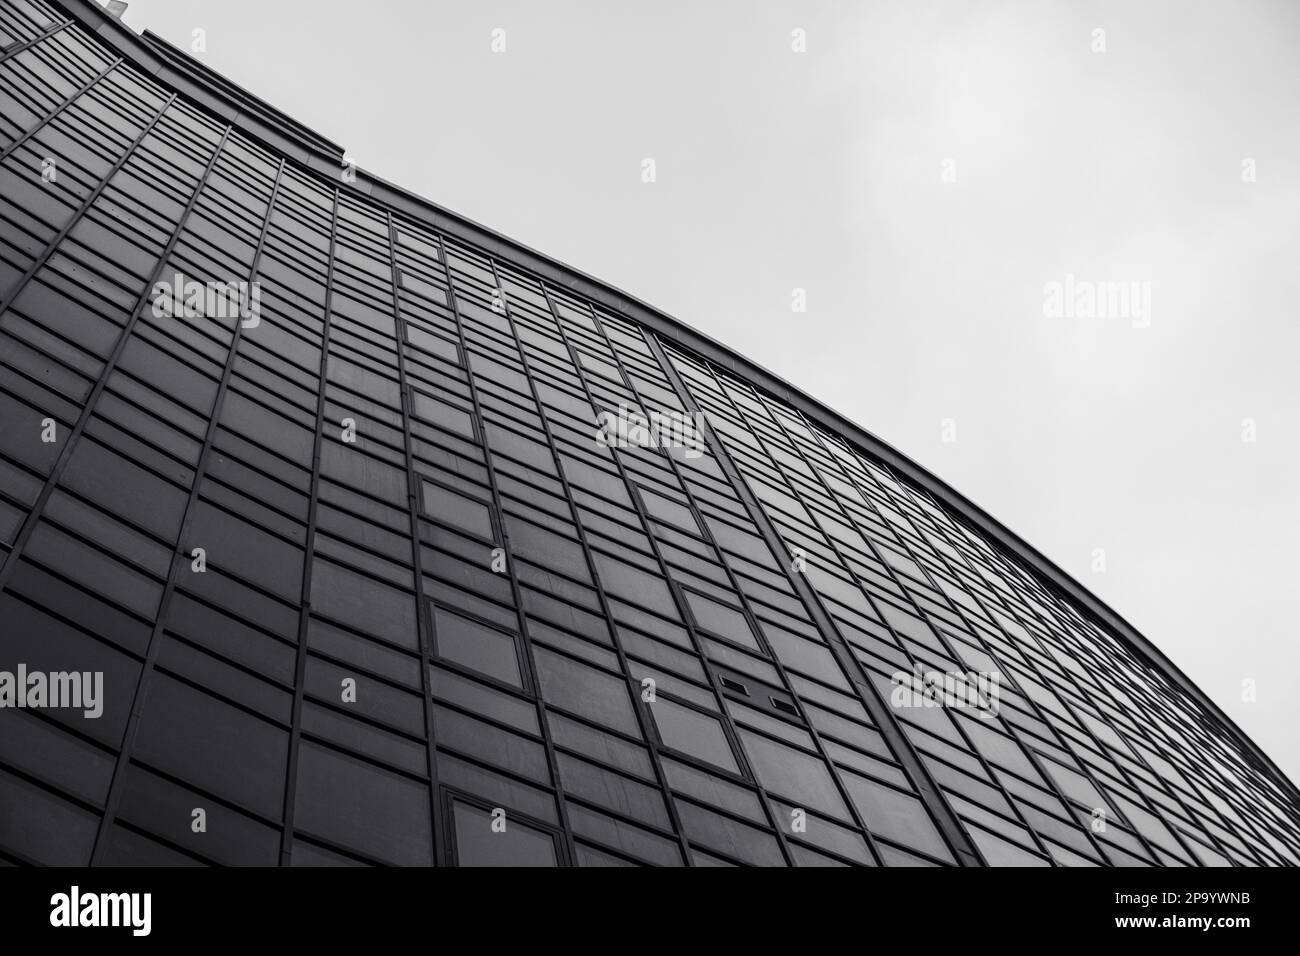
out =
[[(242, 133), (260, 140), (299, 165), (324, 176), (338, 185), (343, 169), (343, 148), (299, 124), (230, 82), (185, 51), (172, 46), (156, 34), (136, 34), (122, 21), (109, 14), (94, 0), (49, 0), (60, 7), (82, 27), (96, 34), (124, 59), (152, 75), (160, 83), (183, 94), (195, 105), (229, 122)], [(446, 209), (400, 186), (386, 182), (363, 169), (356, 169), (356, 193), (382, 203), (394, 212), (432, 226), (447, 235), (477, 246), (511, 263), (523, 265), (554, 286), (568, 289), (610, 311), (627, 316), (651, 329), (656, 336), (722, 365), (750, 385), (786, 402), (812, 421), (829, 429), (857, 449), (876, 458), (904, 477), (923, 488), (962, 519), (978, 528), (1019, 558), (1045, 583), (1054, 587), (1078, 606), (1092, 614), (1101, 624), (1117, 633), (1148, 662), (1161, 670), (1174, 684), (1200, 704), (1212, 717), (1230, 730), (1253, 757), (1268, 769), (1287, 791), (1291, 800), (1300, 804), (1300, 788), (1282, 773), (1273, 760), (1242, 731), (1173, 661), (1147, 640), (1101, 598), (1074, 580), (1056, 563), (1039, 553), (1014, 531), (994, 519), (984, 509), (942, 481), (933, 472), (904, 455), (897, 449), (875, 437), (846, 419), (840, 412), (797, 389), (780, 376), (746, 359), (722, 342), (697, 332), (668, 313), (650, 306), (608, 282), (567, 265), (552, 256), (533, 250), (502, 233)]]

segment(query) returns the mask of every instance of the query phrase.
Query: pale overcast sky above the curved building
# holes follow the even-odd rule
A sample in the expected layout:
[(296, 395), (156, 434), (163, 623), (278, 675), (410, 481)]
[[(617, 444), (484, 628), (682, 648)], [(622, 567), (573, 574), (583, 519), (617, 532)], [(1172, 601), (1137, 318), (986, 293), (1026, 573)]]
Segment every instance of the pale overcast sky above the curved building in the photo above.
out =
[(1300, 780), (1300, 4), (133, 0), (125, 21), (185, 49), (203, 30), (207, 65), (363, 169), (930, 468)]

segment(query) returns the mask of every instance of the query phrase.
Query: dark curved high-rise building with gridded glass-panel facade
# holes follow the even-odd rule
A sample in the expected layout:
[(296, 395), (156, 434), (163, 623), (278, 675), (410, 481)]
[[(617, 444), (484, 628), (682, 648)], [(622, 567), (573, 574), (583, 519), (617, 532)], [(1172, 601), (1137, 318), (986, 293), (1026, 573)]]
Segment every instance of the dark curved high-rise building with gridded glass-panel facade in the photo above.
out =
[(0, 43), (4, 860), (1300, 862), (861, 428), (91, 3)]

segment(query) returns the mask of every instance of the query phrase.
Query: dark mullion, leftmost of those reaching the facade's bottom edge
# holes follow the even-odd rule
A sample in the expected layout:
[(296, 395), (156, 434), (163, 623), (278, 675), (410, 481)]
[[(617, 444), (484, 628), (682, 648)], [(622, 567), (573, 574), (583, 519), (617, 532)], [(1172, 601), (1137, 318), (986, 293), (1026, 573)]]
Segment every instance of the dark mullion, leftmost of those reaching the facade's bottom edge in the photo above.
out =
[[(270, 196), (266, 200), (266, 215), (261, 224), (261, 233), (257, 237), (257, 247), (254, 252), (252, 264), (248, 267), (248, 282), (252, 282), (257, 276), (257, 265), (261, 260), (263, 246), (266, 242), (266, 232), (270, 228), (270, 217), (276, 209), (276, 198), (280, 194), (280, 179), (283, 172), (285, 160), (280, 160), (280, 165), (276, 168), (276, 181), (270, 189)], [(159, 637), (164, 630), (172, 594), (176, 593), (177, 578), (179, 576), (181, 568), (188, 561), (188, 554), (186, 553), (186, 545), (188, 542), (186, 538), (188, 536), (190, 524), (194, 520), (194, 505), (199, 499), (199, 488), (203, 485), (208, 458), (212, 455), (212, 444), (217, 434), (217, 423), (221, 419), (221, 410), (225, 405), (226, 389), (230, 384), (230, 376), (234, 369), (242, 332), (243, 321), (237, 312), (234, 332), (230, 338), (230, 351), (226, 354), (226, 362), (221, 372), (221, 382), (217, 385), (217, 394), (212, 399), (212, 415), (208, 418), (208, 428), (203, 438), (203, 449), (199, 451), (199, 463), (194, 470), (194, 485), (190, 488), (190, 497), (186, 499), (185, 511), (181, 516), (181, 529), (177, 535), (176, 548), (172, 551), (172, 567), (168, 571), (166, 584), (162, 587), (162, 597), (159, 600), (157, 618), (155, 619), (153, 630), (150, 632), (150, 643), (144, 650), (144, 663), (140, 667), (140, 675), (135, 682), (135, 692), (131, 695), (131, 710), (127, 717), (126, 731), (122, 735), (122, 748), (118, 752), (117, 761), (113, 766), (113, 778), (109, 783), (108, 800), (104, 805), (104, 816), (100, 818), (99, 831), (95, 835), (95, 848), (91, 852), (91, 865), (101, 861), (103, 851), (107, 845), (104, 838), (109, 831), (109, 827), (113, 825), (113, 819), (117, 816), (117, 806), (122, 799), (122, 786), (126, 779), (126, 769), (130, 766), (131, 749), (135, 745), (135, 737), (139, 734), (140, 727), (140, 717), (144, 711), (146, 687), (148, 685), (150, 678), (153, 675), (153, 665), (157, 659), (159, 645), (161, 644)]]

